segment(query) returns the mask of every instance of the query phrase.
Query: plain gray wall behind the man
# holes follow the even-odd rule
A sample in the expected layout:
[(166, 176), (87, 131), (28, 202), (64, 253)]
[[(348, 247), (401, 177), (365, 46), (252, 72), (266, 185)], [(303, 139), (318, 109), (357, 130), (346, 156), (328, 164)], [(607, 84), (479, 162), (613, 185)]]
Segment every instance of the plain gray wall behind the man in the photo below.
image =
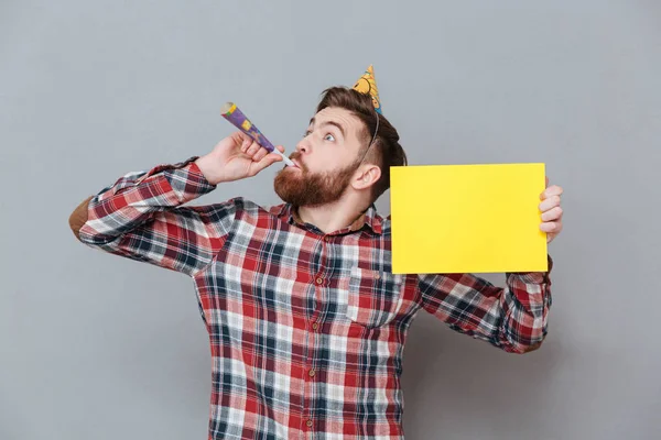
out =
[[(412, 164), (545, 162), (565, 188), (548, 340), (507, 354), (421, 314), (407, 438), (661, 438), (660, 23), (654, 0), (3, 0), (0, 439), (206, 438), (192, 283), (85, 248), (68, 215), (208, 152), (227, 100), (292, 152), (370, 63)], [(278, 202), (274, 173), (196, 204)]]

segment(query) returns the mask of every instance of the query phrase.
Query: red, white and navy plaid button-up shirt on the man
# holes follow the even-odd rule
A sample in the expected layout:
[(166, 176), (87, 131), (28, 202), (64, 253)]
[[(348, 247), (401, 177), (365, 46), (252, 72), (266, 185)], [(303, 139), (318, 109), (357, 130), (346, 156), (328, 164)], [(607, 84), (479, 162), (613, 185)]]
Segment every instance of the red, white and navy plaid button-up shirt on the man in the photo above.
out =
[[(546, 333), (548, 273), (391, 273), (390, 220), (373, 206), (324, 233), (290, 205), (212, 191), (192, 157), (96, 195), (80, 240), (192, 277), (213, 359), (209, 439), (401, 439), (407, 332), (420, 309), (523, 353)], [(550, 263), (551, 263), (551, 258)]]

